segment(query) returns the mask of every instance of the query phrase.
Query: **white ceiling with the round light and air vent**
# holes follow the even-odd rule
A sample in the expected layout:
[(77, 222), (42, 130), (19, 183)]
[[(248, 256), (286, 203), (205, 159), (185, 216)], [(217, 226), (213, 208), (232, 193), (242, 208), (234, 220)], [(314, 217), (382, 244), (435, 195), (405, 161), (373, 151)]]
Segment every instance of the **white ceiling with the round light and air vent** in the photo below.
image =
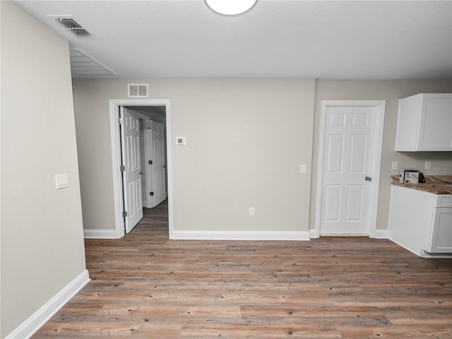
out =
[[(15, 2), (111, 71), (98, 78), (452, 78), (450, 0), (258, 0), (238, 17), (203, 0)], [(62, 14), (96, 38), (47, 18)]]

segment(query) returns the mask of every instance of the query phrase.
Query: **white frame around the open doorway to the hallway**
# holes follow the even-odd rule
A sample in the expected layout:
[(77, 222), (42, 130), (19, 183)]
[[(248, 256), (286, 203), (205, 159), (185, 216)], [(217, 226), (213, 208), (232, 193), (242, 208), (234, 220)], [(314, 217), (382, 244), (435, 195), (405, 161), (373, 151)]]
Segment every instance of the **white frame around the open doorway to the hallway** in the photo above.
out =
[(114, 227), (117, 239), (124, 237), (124, 218), (122, 216), (124, 206), (124, 193), (122, 189), (121, 167), (121, 131), (119, 129), (120, 106), (165, 106), (166, 107), (166, 143), (167, 143), (167, 191), (168, 191), (168, 222), (169, 239), (172, 238), (173, 213), (172, 213), (172, 165), (171, 165), (171, 128), (169, 100), (155, 99), (111, 99), (109, 100), (110, 138), (112, 143), (112, 174), (113, 174), (113, 202), (114, 202)]

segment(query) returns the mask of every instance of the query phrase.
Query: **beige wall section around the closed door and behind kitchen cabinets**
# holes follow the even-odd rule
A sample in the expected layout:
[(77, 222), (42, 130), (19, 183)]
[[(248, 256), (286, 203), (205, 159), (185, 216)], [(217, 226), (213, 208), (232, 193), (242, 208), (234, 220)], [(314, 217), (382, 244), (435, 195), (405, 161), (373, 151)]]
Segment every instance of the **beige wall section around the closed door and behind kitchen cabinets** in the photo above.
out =
[[(386, 100), (381, 158), (379, 208), (377, 230), (386, 230), (391, 185), (389, 178), (400, 169), (423, 170), (425, 161), (432, 161), (432, 169), (452, 168), (452, 152), (396, 152), (398, 100), (418, 93), (452, 93), (451, 81), (316, 81), (316, 108), (314, 121), (314, 152), (311, 186), (311, 218), (309, 229), (316, 227), (317, 182), (319, 180), (319, 154), (322, 100)], [(398, 170), (391, 169), (393, 160)], [(424, 171), (424, 174), (429, 174)], [(435, 172), (435, 174), (451, 174)]]

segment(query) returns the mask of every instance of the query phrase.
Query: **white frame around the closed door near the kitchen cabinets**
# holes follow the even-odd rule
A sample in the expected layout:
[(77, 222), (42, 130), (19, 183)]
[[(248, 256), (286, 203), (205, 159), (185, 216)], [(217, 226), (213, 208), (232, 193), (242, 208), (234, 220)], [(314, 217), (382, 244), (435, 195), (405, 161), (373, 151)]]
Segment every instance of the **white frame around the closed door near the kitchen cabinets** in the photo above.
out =
[(383, 149), (383, 126), (386, 100), (322, 100), (321, 107), (321, 133), (320, 133), (320, 159), (319, 159), (319, 182), (317, 186), (317, 215), (316, 215), (316, 237), (320, 237), (321, 225), (321, 201), (322, 201), (322, 186), (323, 186), (323, 167), (324, 167), (324, 152), (325, 133), (326, 133), (326, 109), (327, 107), (375, 107), (375, 130), (374, 130), (374, 161), (372, 168), (374, 178), (369, 194), (369, 237), (374, 238), (376, 234), (376, 217), (379, 205), (379, 187), (380, 187), (380, 167), (381, 167), (381, 153)]

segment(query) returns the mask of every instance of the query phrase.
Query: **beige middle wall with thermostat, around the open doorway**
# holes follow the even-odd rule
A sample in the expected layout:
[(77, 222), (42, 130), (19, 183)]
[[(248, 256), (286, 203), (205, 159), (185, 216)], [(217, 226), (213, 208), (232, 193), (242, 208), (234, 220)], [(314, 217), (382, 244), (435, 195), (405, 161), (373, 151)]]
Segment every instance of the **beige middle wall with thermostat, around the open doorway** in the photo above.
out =
[(186, 137), (172, 144), (174, 230), (308, 230), (315, 81), (292, 79), (74, 80), (85, 229), (114, 229), (109, 99), (136, 82), (170, 100), (172, 142)]

